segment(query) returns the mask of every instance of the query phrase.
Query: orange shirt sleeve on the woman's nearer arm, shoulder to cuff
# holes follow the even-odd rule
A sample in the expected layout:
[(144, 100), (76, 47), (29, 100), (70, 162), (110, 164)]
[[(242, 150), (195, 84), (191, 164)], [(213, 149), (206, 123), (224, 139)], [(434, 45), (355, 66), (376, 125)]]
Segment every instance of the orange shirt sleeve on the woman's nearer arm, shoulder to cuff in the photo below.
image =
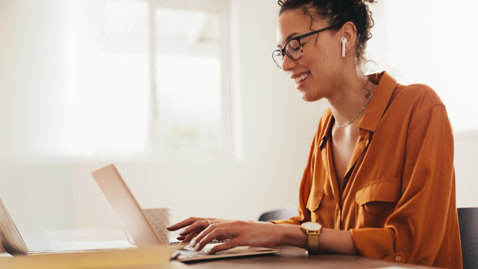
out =
[(350, 230), (360, 255), (431, 266), (454, 205), (453, 169), (453, 134), (437, 104), (407, 133), (402, 196), (385, 227)]

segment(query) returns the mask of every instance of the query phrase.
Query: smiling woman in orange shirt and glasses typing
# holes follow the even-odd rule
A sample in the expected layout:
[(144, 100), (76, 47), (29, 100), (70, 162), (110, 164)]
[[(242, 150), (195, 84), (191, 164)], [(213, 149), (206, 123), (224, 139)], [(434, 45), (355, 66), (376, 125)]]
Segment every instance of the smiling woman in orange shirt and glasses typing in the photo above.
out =
[(178, 239), (197, 235), (190, 244), (196, 250), (231, 239), (210, 253), (289, 244), (461, 268), (453, 135), (438, 95), (426, 85), (396, 83), (386, 72), (364, 75), (373, 20), (363, 0), (279, 4), (274, 61), (303, 100), (325, 98), (330, 106), (312, 142), (299, 216), (269, 223), (189, 218), (169, 230), (188, 226)]

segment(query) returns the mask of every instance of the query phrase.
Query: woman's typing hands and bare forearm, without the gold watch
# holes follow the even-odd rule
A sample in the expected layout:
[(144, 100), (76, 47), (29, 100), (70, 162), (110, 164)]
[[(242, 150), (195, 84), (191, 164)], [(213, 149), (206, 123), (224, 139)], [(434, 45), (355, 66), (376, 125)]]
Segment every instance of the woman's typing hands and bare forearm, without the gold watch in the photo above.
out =
[[(209, 222), (210, 225), (209, 225)], [(190, 246), (201, 250), (214, 239), (231, 241), (219, 244), (206, 252), (212, 254), (217, 251), (230, 249), (236, 246), (261, 246), (273, 247), (278, 244), (288, 244), (300, 248), (307, 248), (307, 235), (302, 232), (300, 225), (272, 224), (261, 221), (224, 220), (217, 218), (190, 217), (168, 230), (176, 231), (188, 226), (178, 239), (184, 238), (185, 242), (191, 241), (199, 234)], [(350, 231), (324, 228), (319, 236), (319, 252), (343, 253), (359, 255), (358, 249), (352, 239)]]

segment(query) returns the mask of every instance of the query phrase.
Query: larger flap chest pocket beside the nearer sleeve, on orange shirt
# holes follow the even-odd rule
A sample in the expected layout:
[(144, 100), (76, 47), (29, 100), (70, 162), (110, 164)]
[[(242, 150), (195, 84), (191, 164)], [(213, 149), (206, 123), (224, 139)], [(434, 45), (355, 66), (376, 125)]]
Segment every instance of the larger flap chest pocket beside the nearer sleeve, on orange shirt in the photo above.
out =
[(402, 179), (386, 178), (374, 180), (358, 187), (358, 227), (382, 228), (393, 213), (402, 196)]

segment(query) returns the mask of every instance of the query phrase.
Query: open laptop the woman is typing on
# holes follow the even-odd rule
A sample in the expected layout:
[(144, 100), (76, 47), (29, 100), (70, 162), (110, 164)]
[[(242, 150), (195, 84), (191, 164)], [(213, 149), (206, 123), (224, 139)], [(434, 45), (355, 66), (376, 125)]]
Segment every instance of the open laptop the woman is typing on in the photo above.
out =
[[(123, 226), (141, 248), (151, 245), (164, 245), (153, 226), (144, 214), (129, 188), (124, 183), (115, 165), (110, 164), (101, 169), (91, 172), (96, 184), (103, 191), (106, 199), (120, 218)], [(174, 258), (181, 261), (198, 261), (238, 256), (263, 255), (277, 253), (280, 250), (264, 247), (240, 246), (226, 251), (218, 251), (214, 254), (205, 254), (205, 251), (212, 247), (208, 244), (201, 251), (194, 251), (192, 248), (184, 247), (175, 252)]]

